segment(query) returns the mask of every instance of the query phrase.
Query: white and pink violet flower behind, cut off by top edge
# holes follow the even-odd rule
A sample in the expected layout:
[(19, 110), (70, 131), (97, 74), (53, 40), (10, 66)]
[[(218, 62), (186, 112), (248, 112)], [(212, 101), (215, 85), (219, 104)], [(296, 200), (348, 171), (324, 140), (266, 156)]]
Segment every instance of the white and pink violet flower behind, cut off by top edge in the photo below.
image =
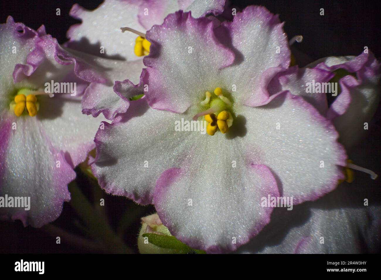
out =
[(102, 57), (91, 58), (77, 53), (87, 61), (93, 60), (94, 67), (100, 67), (99, 70), (112, 78), (112, 82), (91, 83), (83, 97), (83, 113), (93, 117), (102, 113), (112, 120), (128, 109), (128, 99), (115, 94), (114, 81), (128, 77), (132, 83), (139, 82), (144, 68), (142, 57), (149, 53), (150, 43), (132, 32), (122, 33), (121, 27), (145, 32), (154, 24), (162, 24), (165, 16), (176, 10), (192, 10), (194, 16), (200, 17), (222, 13), (224, 3), (224, 0), (105, 0), (94, 11), (75, 4), (70, 15), (82, 23), (70, 27), (66, 46)]

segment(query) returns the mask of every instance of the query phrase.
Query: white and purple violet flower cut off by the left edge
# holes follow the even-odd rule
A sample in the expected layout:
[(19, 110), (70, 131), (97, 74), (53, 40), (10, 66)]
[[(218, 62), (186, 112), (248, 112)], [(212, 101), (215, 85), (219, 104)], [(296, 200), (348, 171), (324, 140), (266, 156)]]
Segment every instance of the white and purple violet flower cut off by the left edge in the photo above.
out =
[[(94, 148), (99, 120), (81, 112), (89, 82), (104, 78), (64, 51), (57, 41), (15, 23), (0, 25), (0, 196), (30, 197), (30, 209), (8, 205), (1, 219), (41, 227), (58, 218), (70, 200), (74, 166)], [(75, 92), (55, 93), (46, 84), (75, 83)]]

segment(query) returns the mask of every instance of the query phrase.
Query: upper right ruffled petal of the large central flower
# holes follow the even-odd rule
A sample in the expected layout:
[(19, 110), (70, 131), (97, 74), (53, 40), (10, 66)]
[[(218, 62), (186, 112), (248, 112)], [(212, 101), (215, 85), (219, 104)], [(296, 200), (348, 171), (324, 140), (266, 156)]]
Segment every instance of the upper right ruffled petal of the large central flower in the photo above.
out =
[(269, 81), (269, 72), (265, 71), (290, 65), (287, 36), (278, 16), (264, 7), (248, 6), (234, 16), (232, 22), (224, 22), (216, 29), (216, 34), (235, 52), (235, 63), (221, 71), (227, 81), (226, 88), (230, 90), (235, 85), (233, 95), (242, 104), (264, 104), (269, 98), (264, 83)]

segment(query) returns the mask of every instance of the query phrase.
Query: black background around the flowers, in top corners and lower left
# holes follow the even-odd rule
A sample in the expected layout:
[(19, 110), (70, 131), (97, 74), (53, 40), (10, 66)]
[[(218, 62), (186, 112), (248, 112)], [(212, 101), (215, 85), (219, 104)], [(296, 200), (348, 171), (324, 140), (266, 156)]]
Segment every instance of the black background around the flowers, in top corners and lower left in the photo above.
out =
[[(27, 26), (37, 29), (42, 24), (46, 32), (58, 39), (59, 43), (66, 42), (66, 31), (79, 21), (69, 16), (69, 10), (74, 3), (86, 9), (96, 8), (102, 1), (31, 1), (12, 0), (0, 3), (0, 22), (5, 22), (8, 15), (13, 16), (16, 22), (23, 22)], [(303, 35), (303, 43), (296, 43), (297, 48), (308, 54), (312, 59), (325, 56), (359, 55), (364, 46), (381, 57), (381, 5), (380, 1), (231, 1), (233, 5), (244, 8), (247, 5), (266, 6), (274, 14), (279, 14), (281, 21), (285, 21), (285, 32), (289, 38), (294, 35)], [(61, 9), (61, 15), (56, 15), (56, 8)], [(324, 16), (320, 16), (320, 8), (324, 8)], [(379, 122), (378, 122), (379, 123)], [(78, 186), (83, 193), (94, 200), (93, 186), (81, 171), (78, 174)], [(98, 193), (99, 195), (99, 193)], [(139, 229), (139, 217), (154, 211), (152, 206), (136, 206), (132, 201), (123, 197), (114, 197), (101, 192), (106, 200), (106, 211), (109, 222), (116, 230), (118, 221), (128, 216), (128, 209), (137, 213), (133, 221), (125, 221), (123, 239), (127, 245), (137, 252), (136, 236)], [(99, 200), (98, 200), (99, 201)], [(126, 212), (127, 209), (127, 212)], [(80, 218), (69, 203), (64, 203), (64, 210), (54, 226), (61, 227), (77, 235), (83, 235), (80, 230)], [(57, 235), (49, 230), (24, 228), (20, 221), (0, 222), (0, 253), (86, 253), (92, 250), (78, 248), (61, 242), (56, 245)]]

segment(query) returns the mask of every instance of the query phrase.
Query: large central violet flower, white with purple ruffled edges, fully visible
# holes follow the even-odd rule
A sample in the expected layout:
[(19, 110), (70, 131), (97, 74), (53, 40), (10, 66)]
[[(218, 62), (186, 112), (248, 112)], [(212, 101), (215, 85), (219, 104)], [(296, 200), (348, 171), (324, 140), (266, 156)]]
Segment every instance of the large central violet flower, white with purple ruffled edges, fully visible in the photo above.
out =
[[(344, 178), (346, 153), (319, 108), (291, 94), (293, 85), (267, 90), (290, 64), (277, 16), (250, 6), (213, 29), (207, 18), (178, 11), (146, 39), (139, 85), (125, 80), (114, 89), (125, 98), (148, 91), (96, 134), (92, 170), (107, 192), (153, 203), (179, 240), (221, 252), (270, 221), (261, 198), (293, 197), (296, 205)], [(320, 68), (307, 74), (332, 77)], [(206, 120), (209, 135), (175, 131), (181, 119)]]

